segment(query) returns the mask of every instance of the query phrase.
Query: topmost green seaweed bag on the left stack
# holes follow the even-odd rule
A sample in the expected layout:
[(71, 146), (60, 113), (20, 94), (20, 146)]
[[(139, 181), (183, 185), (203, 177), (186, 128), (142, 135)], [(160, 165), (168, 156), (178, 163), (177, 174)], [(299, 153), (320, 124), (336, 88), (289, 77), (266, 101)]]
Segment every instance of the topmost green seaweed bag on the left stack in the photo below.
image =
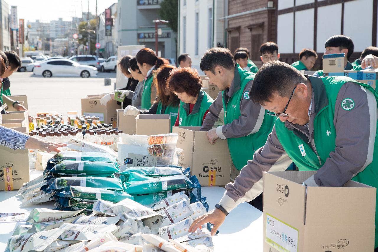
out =
[(117, 164), (117, 160), (105, 152), (82, 152), (82, 151), (61, 151), (54, 155), (48, 162), (59, 162), (64, 160), (71, 161), (94, 161), (110, 162)]

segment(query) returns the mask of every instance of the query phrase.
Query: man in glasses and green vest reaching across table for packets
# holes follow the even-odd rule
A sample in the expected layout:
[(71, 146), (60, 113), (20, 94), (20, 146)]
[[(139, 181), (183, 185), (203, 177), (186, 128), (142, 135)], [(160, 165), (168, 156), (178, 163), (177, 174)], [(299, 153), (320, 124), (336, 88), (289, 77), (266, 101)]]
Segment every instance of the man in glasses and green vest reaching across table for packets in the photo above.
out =
[(283, 171), (291, 162), (299, 171), (316, 171), (301, 181), (305, 187), (342, 187), (350, 179), (377, 187), (378, 93), (372, 87), (345, 76), (304, 76), (271, 61), (260, 68), (250, 94), (277, 118), (273, 131), (235, 182), (226, 185), (217, 209), (195, 220), (190, 232), (211, 222), (214, 234), (228, 212), (262, 192), (264, 171)]

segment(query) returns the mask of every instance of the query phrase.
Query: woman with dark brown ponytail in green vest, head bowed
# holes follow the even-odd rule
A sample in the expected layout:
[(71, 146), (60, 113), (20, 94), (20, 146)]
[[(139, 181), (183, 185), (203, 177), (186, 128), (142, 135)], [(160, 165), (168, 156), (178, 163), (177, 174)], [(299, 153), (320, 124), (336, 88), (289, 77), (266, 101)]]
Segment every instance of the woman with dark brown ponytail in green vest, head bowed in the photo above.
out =
[(143, 48), (135, 56), (138, 62), (139, 70), (146, 76), (143, 83), (142, 109), (149, 109), (156, 98), (156, 88), (152, 84), (152, 71), (158, 69), (161, 65), (169, 64), (164, 58), (156, 57), (154, 51), (150, 48)]

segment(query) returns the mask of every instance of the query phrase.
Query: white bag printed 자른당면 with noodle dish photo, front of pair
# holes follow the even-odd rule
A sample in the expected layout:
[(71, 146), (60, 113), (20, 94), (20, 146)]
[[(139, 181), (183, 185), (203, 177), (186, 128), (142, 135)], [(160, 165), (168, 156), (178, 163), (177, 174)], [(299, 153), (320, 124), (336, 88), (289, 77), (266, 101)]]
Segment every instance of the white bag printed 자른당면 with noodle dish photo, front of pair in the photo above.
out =
[(163, 145), (126, 145), (118, 144), (118, 162), (121, 171), (129, 167), (175, 165), (181, 149), (175, 143)]

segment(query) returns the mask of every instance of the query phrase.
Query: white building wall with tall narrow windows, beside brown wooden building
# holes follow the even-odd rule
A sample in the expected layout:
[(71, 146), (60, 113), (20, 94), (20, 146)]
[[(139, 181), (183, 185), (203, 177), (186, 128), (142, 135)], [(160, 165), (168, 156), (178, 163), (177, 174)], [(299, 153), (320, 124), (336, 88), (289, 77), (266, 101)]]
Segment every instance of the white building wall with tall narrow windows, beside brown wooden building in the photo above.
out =
[[(226, 0), (179, 0), (178, 54), (189, 53), (200, 70), (201, 57), (212, 47), (224, 47)], [(215, 17), (215, 18), (214, 18)]]

